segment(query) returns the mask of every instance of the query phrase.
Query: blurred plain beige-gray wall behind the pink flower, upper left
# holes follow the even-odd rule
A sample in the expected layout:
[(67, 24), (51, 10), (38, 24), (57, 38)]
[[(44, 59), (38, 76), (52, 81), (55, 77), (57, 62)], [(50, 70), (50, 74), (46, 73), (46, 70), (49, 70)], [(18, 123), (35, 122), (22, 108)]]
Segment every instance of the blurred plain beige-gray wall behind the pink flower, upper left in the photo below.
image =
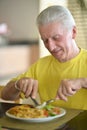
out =
[(39, 0), (0, 0), (0, 23), (8, 24), (11, 39), (36, 40), (38, 9)]

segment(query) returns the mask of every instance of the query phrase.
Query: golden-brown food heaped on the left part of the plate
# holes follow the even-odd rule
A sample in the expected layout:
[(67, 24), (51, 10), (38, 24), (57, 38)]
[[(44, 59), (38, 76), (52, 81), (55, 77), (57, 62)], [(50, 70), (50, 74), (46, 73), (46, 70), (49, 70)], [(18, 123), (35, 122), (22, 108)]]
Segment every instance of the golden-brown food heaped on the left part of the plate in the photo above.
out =
[(8, 110), (8, 113), (21, 118), (41, 118), (44, 117), (43, 110), (31, 107), (30, 105), (18, 105)]

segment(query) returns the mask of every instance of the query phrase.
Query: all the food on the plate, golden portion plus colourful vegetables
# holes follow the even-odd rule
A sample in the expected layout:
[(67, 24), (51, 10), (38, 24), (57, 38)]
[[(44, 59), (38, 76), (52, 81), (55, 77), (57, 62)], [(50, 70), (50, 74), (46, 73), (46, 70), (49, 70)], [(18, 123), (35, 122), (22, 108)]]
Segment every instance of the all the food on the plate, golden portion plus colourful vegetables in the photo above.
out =
[(47, 105), (42, 109), (34, 108), (31, 105), (17, 105), (8, 110), (8, 113), (19, 118), (44, 118), (60, 114), (60, 109)]

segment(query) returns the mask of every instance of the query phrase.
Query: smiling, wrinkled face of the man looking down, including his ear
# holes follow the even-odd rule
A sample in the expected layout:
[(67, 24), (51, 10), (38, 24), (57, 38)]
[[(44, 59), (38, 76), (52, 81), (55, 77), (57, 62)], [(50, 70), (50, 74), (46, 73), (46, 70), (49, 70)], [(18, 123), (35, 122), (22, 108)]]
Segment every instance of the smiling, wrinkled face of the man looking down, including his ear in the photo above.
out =
[(49, 52), (60, 62), (70, 59), (73, 51), (74, 31), (67, 31), (60, 23), (39, 26), (41, 39)]

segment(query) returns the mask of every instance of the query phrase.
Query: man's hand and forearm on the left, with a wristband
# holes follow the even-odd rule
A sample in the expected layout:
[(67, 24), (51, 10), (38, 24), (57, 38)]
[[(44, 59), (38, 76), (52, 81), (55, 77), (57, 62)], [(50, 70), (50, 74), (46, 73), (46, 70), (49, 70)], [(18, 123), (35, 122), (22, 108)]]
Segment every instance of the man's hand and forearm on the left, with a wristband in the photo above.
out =
[[(16, 85), (16, 87), (15, 87)], [(18, 89), (17, 89), (18, 88)], [(25, 97), (30, 95), (35, 98), (38, 91), (38, 81), (32, 78), (22, 78), (18, 81), (9, 82), (2, 90), (1, 97), (5, 100), (15, 100), (20, 98), (20, 92), (25, 94)]]

